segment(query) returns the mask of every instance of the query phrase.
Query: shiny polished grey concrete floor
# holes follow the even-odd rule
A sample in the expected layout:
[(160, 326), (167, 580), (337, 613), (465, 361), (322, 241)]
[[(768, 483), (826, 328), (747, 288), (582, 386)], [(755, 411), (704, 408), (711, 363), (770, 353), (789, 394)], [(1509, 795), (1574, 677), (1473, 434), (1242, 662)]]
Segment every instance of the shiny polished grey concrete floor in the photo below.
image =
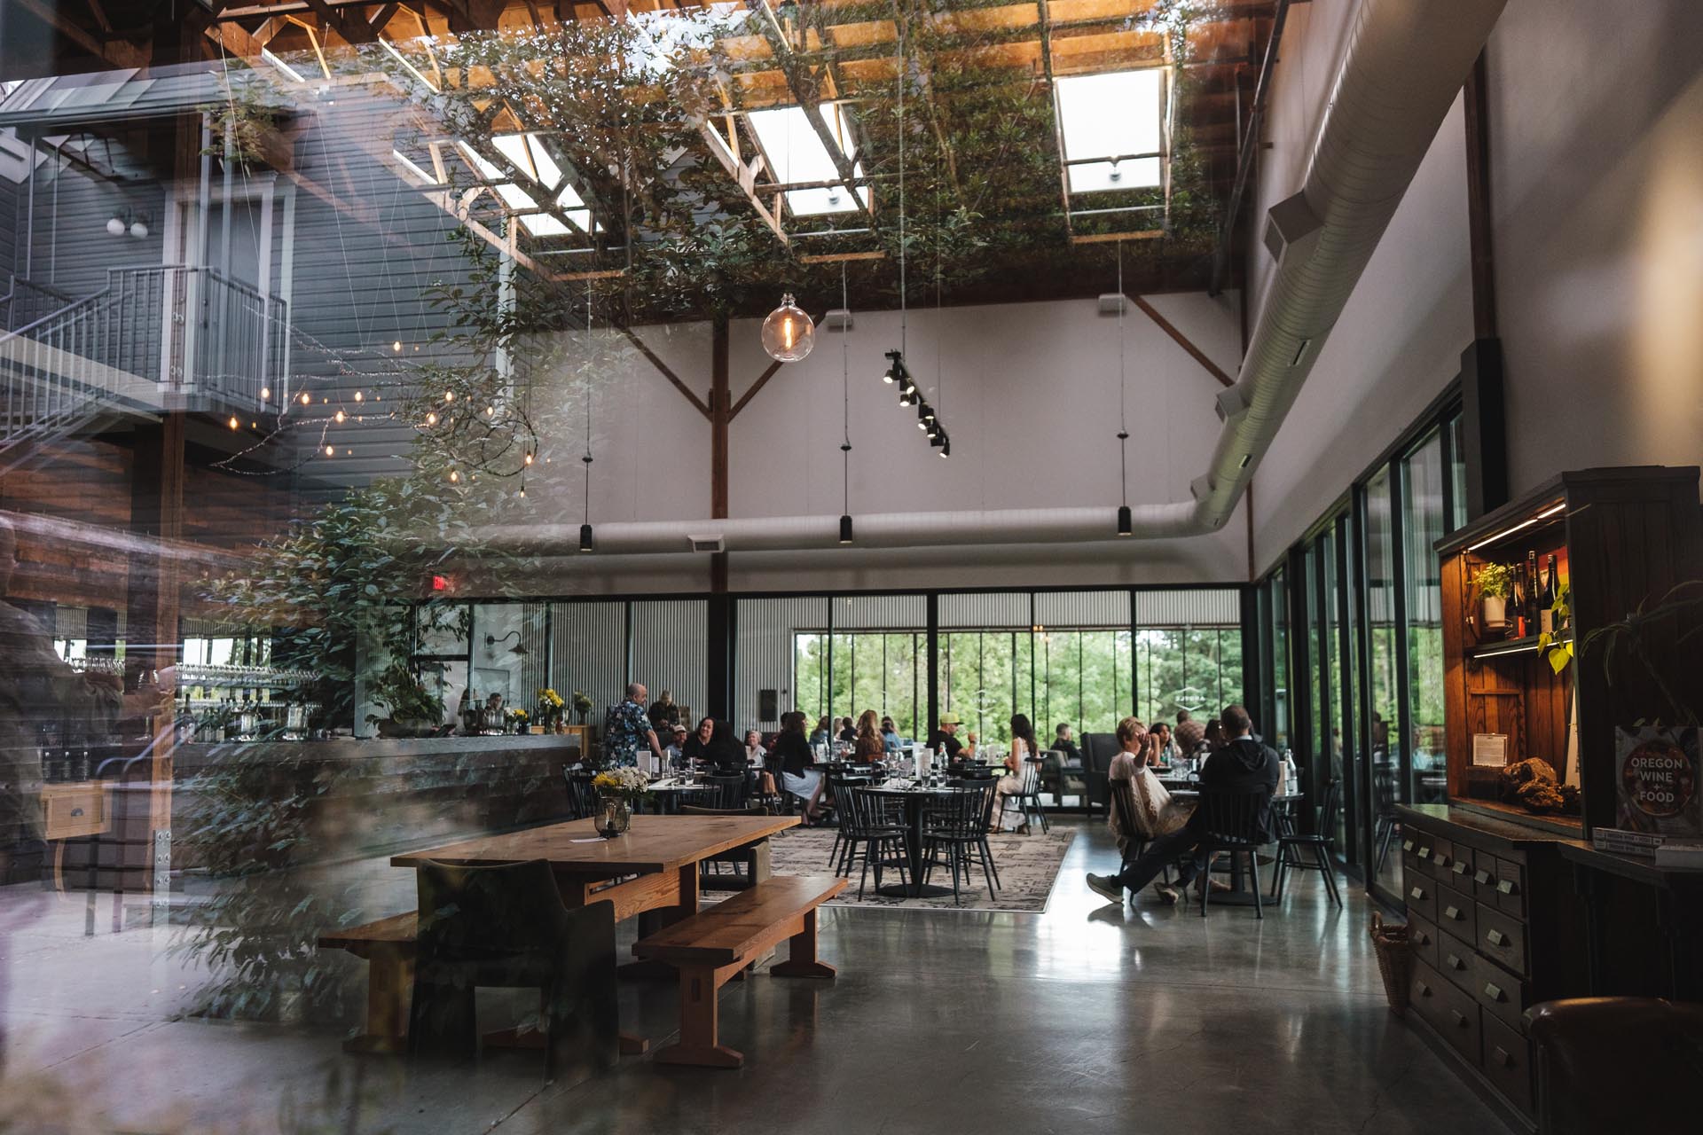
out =
[[(114, 929), (135, 915), (116, 921), (111, 895), (90, 917), (83, 895), (14, 888), (0, 893), (0, 1130), (1505, 1130), (1385, 1009), (1364, 897), (1337, 912), (1306, 875), (1264, 922), (1151, 892), (1121, 910), (1081, 880), (1114, 864), (1105, 829), (1083, 822), (1046, 914), (824, 910), (838, 980), (724, 990), (743, 1070), (625, 1058), (553, 1084), (536, 1053), (409, 1067), (347, 1057), (325, 1028), (174, 1019), (201, 973), (172, 931)], [(622, 1012), (661, 1041), (671, 989), (628, 984)]]

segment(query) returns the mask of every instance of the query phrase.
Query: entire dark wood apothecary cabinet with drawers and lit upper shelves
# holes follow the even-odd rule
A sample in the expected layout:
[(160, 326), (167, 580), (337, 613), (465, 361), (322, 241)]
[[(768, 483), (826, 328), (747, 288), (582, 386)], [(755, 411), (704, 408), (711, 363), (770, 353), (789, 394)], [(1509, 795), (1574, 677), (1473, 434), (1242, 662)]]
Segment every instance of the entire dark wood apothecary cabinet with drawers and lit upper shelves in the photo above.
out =
[[(1642, 466), (1563, 473), (1437, 543), (1449, 803), (1398, 810), (1415, 950), (1410, 1016), (1526, 1125), (1534, 1082), (1524, 1011), (1633, 992), (1631, 975), (1614, 977), (1626, 961), (1616, 961), (1613, 938), (1649, 941), (1679, 926), (1669, 895), (1666, 927), (1650, 914), (1645, 926), (1604, 929), (1601, 898), (1616, 883), (1591, 866), (1604, 853), (1587, 841), (1591, 829), (1614, 825), (1616, 725), (1672, 721), (1676, 699), (1703, 706), (1703, 636), (1684, 643), (1672, 625), (1643, 636), (1666, 689), (1637, 669), (1611, 672), (1601, 650), (1582, 643), (1703, 579), (1700, 533), (1698, 470)], [(1536, 633), (1495, 633), (1480, 618), (1478, 572), (1524, 565), (1528, 551), (1540, 568), (1555, 555), (1570, 585), (1575, 659), (1562, 672)], [(1473, 762), (1480, 733), (1505, 737), (1507, 762), (1548, 761), (1577, 786), (1577, 812), (1540, 815), (1500, 800), (1500, 767)]]

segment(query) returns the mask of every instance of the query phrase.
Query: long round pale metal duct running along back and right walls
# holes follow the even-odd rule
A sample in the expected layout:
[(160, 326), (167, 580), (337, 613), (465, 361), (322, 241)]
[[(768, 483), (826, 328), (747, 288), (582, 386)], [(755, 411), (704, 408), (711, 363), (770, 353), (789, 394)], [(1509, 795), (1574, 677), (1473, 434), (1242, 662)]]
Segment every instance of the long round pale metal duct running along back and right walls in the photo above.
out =
[[(1265, 216), (1264, 243), (1277, 262), (1236, 383), (1218, 395), (1224, 429), (1192, 500), (1136, 505), (1131, 534), (1161, 539), (1223, 528), (1248, 478), (1294, 405), (1325, 339), (1366, 271), (1490, 37), (1505, 0), (1362, 0), (1330, 90), (1301, 191)], [(1115, 509), (1006, 509), (857, 516), (857, 543), (908, 548), (974, 543), (1119, 539)], [(599, 553), (690, 551), (690, 538), (720, 534), (729, 551), (833, 548), (840, 517), (599, 524)], [(576, 526), (489, 529), (506, 548), (562, 551)]]

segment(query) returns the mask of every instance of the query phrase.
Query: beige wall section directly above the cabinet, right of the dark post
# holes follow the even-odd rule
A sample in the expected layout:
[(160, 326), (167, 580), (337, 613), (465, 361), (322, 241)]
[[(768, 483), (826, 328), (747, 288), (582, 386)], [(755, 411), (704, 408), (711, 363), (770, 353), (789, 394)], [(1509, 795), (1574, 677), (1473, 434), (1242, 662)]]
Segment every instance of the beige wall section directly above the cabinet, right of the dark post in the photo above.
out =
[(1703, 461), (1703, 3), (1511, 0), (1490, 41), (1516, 493)]

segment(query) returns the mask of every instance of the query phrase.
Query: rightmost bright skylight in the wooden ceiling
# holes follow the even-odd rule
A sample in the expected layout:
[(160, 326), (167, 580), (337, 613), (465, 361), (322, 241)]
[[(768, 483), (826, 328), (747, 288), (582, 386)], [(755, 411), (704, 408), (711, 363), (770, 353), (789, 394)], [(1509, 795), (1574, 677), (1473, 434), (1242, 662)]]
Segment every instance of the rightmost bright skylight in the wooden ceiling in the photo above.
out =
[(1068, 75), (1052, 88), (1071, 192), (1161, 184), (1163, 68)]

